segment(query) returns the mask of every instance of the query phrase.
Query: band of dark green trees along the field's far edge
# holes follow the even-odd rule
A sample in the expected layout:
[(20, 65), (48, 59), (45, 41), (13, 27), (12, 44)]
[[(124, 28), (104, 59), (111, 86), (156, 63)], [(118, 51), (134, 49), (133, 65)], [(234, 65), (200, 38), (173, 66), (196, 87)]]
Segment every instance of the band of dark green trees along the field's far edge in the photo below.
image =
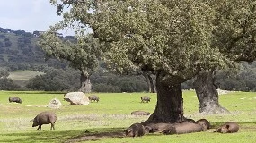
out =
[[(45, 74), (28, 81), (25, 87), (8, 79), (9, 71), (0, 70), (2, 90), (45, 90), (76, 91), (80, 88), (80, 71), (40, 67), (35, 71)], [(220, 89), (236, 91), (256, 91), (256, 63), (242, 63), (238, 71), (218, 71), (216, 85)], [(154, 77), (154, 75), (152, 75)], [(183, 89), (193, 88), (193, 79), (182, 84)], [(93, 92), (147, 92), (146, 79), (142, 75), (118, 75), (99, 68), (91, 76)]]

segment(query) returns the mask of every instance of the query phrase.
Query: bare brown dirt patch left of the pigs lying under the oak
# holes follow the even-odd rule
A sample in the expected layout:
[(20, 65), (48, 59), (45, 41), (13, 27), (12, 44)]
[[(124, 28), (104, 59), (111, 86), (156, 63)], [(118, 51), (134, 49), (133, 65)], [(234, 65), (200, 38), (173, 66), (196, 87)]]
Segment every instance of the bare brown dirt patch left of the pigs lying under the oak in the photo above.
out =
[(66, 140), (66, 143), (73, 143), (73, 142), (80, 142), (80, 141), (95, 141), (100, 140), (103, 138), (124, 138), (124, 133), (120, 131), (114, 131), (114, 132), (93, 132), (86, 130), (84, 131), (84, 135), (68, 139)]

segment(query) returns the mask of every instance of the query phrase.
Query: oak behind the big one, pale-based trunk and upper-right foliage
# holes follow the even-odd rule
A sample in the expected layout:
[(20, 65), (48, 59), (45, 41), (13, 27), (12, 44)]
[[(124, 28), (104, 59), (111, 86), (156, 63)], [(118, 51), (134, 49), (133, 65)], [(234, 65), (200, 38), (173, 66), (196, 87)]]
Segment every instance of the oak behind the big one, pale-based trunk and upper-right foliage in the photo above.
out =
[[(216, 8), (212, 46), (234, 62), (253, 62), (256, 59), (256, 1), (216, 0), (211, 7)], [(217, 69), (200, 71), (196, 76), (194, 87), (199, 99), (199, 113), (229, 113), (218, 102)]]

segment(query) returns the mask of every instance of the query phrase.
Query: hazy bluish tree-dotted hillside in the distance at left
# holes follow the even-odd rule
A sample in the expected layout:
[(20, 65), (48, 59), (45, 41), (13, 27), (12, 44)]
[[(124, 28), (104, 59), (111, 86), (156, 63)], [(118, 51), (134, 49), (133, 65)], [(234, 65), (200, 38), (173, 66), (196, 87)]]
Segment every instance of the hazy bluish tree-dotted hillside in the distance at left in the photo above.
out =
[[(67, 63), (54, 59), (45, 60), (44, 52), (37, 46), (40, 33), (42, 32), (29, 33), (24, 30), (13, 31), (0, 27), (0, 66), (7, 67), (11, 71), (33, 70), (41, 66), (66, 67)], [(66, 36), (65, 38), (74, 37)]]

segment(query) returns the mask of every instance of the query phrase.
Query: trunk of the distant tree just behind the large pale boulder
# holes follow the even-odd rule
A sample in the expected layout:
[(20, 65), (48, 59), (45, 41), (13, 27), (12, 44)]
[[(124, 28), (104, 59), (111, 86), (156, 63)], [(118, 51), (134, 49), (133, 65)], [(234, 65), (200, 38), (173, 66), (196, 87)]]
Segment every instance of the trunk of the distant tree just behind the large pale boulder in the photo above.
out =
[(91, 92), (92, 85), (91, 85), (89, 75), (85, 75), (85, 74), (81, 73), (80, 83), (81, 83), (81, 88), (79, 89), (79, 91), (84, 92), (84, 93), (90, 93)]

